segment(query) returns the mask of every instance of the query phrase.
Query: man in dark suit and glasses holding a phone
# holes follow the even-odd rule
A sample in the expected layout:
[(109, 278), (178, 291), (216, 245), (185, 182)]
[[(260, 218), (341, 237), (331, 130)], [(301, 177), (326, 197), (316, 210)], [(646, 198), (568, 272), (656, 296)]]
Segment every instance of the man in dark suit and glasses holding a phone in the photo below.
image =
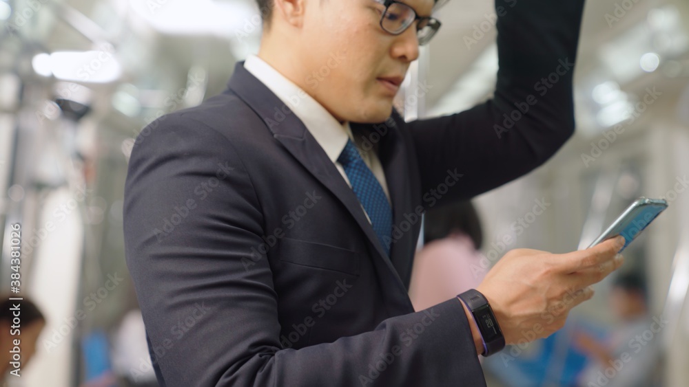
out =
[[(439, 27), (433, 0), (259, 3), (258, 56), (132, 151), (127, 265), (158, 381), (484, 386), (477, 355), (499, 346), (473, 307), (415, 313), (407, 296), (420, 217), (570, 137), (583, 0), (497, 0), (494, 98), (415, 122), (393, 96)], [(477, 291), (507, 344), (542, 338), (619, 267), (620, 246), (513, 250)]]

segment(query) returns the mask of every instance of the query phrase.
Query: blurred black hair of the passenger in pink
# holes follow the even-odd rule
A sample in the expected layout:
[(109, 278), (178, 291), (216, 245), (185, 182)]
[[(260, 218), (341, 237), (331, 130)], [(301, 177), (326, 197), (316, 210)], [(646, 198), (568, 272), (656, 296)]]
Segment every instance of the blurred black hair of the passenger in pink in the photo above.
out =
[(481, 221), (471, 201), (459, 201), (426, 212), (424, 243), (443, 239), (455, 231), (468, 235), (477, 249), (483, 245)]

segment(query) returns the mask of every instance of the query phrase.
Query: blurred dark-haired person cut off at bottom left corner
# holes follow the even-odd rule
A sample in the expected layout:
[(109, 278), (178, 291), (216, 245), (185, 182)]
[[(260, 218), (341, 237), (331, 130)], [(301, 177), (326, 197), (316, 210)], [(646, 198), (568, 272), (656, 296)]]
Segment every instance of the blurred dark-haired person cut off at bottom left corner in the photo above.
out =
[[(10, 300), (10, 297), (12, 296), (5, 295), (3, 301), (0, 302), (0, 370), (2, 371), (0, 375), (2, 375), (3, 384), (10, 377), (8, 373), (17, 369), (12, 364), (16, 362), (16, 358), (12, 357), (17, 355), (14, 340), (19, 340), (19, 362), (17, 363), (21, 377), (24, 368), (36, 353), (36, 342), (45, 328), (43, 313), (33, 302), (25, 297), (21, 301)], [(19, 319), (18, 324), (17, 321), (13, 321), (15, 317)]]

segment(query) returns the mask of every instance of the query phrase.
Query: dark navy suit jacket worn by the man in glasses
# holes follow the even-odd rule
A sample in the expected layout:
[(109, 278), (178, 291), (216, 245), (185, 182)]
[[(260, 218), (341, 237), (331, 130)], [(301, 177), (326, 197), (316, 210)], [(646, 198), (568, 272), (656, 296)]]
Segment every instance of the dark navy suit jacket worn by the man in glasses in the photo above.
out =
[(583, 0), (497, 7), (491, 100), (352, 124), (384, 167), (390, 257), (325, 151), (243, 63), (226, 91), (138, 135), (126, 258), (161, 386), (485, 385), (460, 301), (415, 313), (407, 296), (420, 214), (528, 173), (570, 137)]

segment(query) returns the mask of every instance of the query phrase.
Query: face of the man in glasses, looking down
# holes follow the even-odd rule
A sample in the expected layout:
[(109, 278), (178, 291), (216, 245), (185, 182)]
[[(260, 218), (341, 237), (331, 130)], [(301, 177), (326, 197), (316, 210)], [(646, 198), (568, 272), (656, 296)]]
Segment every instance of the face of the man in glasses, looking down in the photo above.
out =
[[(386, 120), (419, 55), (417, 22), (395, 36), (380, 27), (385, 8), (376, 0), (305, 1), (300, 38), (292, 46), (304, 67), (298, 85), (340, 121)], [(429, 16), (434, 5), (433, 0), (403, 1), (419, 16)]]

